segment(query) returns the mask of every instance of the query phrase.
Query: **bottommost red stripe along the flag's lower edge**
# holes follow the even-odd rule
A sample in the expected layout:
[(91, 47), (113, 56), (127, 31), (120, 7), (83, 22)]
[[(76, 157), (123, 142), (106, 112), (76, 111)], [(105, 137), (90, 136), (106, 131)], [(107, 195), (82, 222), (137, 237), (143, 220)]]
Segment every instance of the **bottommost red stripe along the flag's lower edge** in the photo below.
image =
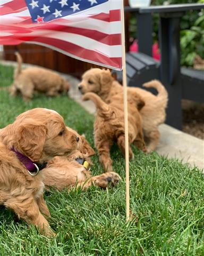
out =
[(106, 66), (111, 66), (115, 68), (120, 68), (122, 66), (122, 58), (108, 58), (107, 56), (95, 52), (93, 50), (87, 50), (81, 46), (75, 45), (73, 43), (65, 42), (60, 39), (55, 38), (43, 38), (43, 37), (36, 37), (36, 36), (23, 36), (18, 38), (11, 38), (11, 36), (5, 36), (0, 40), (0, 43), (3, 43), (4, 45), (9, 44), (20, 44), (25, 41), (34, 41), (39, 43), (48, 44), (50, 46), (54, 46), (59, 50), (63, 50), (68, 55), (73, 54), (79, 58), (82, 58), (87, 61), (94, 61), (101, 64), (104, 64)]

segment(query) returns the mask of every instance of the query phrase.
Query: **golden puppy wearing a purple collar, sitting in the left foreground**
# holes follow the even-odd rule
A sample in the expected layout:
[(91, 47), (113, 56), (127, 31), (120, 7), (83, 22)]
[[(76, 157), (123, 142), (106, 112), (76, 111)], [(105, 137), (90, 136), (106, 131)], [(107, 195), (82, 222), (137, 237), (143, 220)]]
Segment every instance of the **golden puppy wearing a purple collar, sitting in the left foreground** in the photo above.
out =
[[(54, 235), (44, 217), (50, 213), (43, 198), (43, 173), (55, 156), (69, 156), (81, 149), (78, 134), (65, 126), (56, 111), (35, 108), (1, 129), (0, 139), (0, 204), (37, 226), (41, 233)], [(92, 181), (88, 182), (91, 185)], [(97, 182), (93, 179), (94, 185), (100, 186)], [(101, 183), (104, 186), (105, 181)]]

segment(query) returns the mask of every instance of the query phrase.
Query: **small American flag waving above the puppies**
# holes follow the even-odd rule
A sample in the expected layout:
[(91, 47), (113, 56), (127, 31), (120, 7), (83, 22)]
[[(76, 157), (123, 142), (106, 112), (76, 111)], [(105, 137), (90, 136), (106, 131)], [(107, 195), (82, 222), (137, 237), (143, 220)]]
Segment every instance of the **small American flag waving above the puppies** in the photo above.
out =
[(40, 44), (122, 69), (123, 0), (1, 0), (0, 44)]

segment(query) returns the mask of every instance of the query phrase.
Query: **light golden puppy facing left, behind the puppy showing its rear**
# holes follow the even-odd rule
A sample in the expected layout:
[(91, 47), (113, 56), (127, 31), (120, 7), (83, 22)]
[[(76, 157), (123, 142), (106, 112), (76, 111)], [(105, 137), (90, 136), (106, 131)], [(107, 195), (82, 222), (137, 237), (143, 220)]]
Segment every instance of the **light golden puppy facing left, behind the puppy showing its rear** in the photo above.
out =
[[(137, 92), (145, 101), (145, 106), (140, 110), (140, 114), (147, 151), (150, 152), (155, 150), (159, 141), (158, 125), (165, 121), (168, 95), (159, 81), (153, 80), (143, 86), (155, 88), (158, 94), (155, 96), (138, 87), (128, 87), (128, 94), (131, 95), (133, 92)], [(82, 94), (95, 92), (106, 103), (112, 102), (114, 95), (123, 93), (122, 85), (114, 81), (111, 72), (99, 68), (92, 68), (83, 74), (79, 90)]]

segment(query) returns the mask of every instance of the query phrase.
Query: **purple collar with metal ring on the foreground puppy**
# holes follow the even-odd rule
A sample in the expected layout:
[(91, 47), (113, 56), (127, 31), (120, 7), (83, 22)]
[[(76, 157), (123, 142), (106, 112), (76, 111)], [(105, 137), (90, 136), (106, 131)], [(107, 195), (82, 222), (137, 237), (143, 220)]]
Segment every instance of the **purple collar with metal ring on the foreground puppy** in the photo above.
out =
[(47, 162), (44, 162), (43, 164), (39, 163), (33, 163), (30, 158), (27, 156), (21, 154), (19, 151), (16, 151), (14, 147), (11, 149), (13, 152), (15, 152), (16, 156), (19, 158), (20, 162), (24, 164), (30, 175), (35, 176), (38, 174), (38, 172), (42, 169), (44, 169), (47, 165)]

